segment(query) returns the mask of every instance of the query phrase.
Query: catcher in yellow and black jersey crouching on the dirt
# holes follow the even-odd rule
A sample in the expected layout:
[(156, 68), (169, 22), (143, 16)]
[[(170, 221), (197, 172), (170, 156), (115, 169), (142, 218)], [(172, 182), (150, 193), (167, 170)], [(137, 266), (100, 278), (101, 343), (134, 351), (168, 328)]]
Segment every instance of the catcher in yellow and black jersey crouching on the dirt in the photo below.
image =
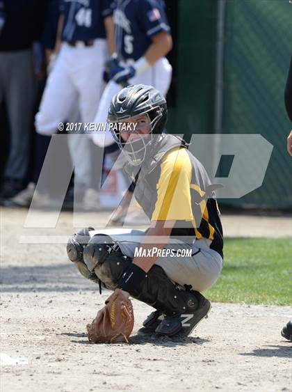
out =
[[(187, 143), (164, 133), (166, 118), (165, 98), (152, 86), (129, 86), (113, 97), (108, 121), (135, 123), (133, 132), (113, 127), (112, 133), (151, 224), (130, 235), (92, 236), (92, 228), (83, 229), (70, 238), (67, 253), (83, 276), (115, 290), (123, 305), (131, 295), (155, 309), (139, 334), (184, 337), (210, 311), (201, 292), (222, 269), (222, 226), (216, 186)], [(179, 257), (186, 249), (188, 256)], [(122, 320), (129, 324), (127, 316)]]

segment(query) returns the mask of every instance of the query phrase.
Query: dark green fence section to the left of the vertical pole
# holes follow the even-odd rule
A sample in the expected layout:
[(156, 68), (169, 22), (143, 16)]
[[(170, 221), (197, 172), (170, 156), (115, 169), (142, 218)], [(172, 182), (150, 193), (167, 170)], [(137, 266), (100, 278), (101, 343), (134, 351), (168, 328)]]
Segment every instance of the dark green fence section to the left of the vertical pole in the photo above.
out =
[(213, 129), (217, 5), (214, 0), (177, 1), (177, 102), (170, 110), (168, 130), (186, 136), (209, 133)]

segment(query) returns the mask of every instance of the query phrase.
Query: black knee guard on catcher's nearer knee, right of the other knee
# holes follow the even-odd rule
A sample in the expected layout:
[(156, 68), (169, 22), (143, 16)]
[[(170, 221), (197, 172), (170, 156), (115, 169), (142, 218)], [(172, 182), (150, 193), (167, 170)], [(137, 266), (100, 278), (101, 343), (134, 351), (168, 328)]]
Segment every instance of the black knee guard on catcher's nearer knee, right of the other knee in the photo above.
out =
[(97, 234), (83, 252), (83, 260), (107, 288), (114, 289), (131, 258), (124, 256), (120, 247), (109, 235)]

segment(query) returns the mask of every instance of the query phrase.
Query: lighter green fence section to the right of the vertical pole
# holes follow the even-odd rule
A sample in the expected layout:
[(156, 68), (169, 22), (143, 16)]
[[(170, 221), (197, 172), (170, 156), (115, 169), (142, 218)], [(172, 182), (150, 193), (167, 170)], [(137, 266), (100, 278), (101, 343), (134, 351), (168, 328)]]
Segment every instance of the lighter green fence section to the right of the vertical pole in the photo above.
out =
[(284, 108), (291, 44), (289, 1), (226, 1), (222, 133), (261, 134), (274, 146), (263, 185), (229, 203), (292, 206), (291, 123)]

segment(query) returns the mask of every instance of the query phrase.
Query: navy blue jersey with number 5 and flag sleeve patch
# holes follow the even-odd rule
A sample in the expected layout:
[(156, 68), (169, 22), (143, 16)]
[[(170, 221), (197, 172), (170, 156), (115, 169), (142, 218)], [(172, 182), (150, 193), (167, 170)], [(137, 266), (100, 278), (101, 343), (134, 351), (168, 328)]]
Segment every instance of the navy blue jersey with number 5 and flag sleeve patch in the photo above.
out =
[(118, 56), (138, 60), (161, 31), (170, 33), (163, 0), (113, 0)]

